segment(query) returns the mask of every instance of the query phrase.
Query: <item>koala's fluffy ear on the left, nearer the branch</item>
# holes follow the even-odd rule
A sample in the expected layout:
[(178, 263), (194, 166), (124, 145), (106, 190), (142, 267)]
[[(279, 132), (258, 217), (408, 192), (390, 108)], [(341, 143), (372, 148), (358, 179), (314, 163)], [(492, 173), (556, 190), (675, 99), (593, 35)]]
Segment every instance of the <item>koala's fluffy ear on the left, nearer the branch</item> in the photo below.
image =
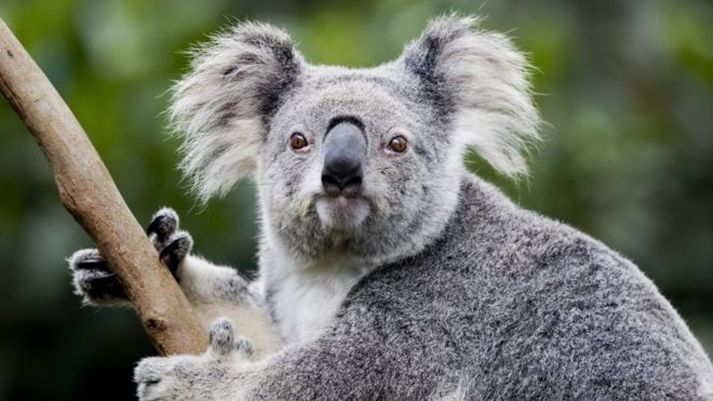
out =
[(203, 201), (251, 174), (280, 102), (304, 61), (289, 35), (240, 23), (195, 49), (169, 114), (183, 138), (181, 169)]

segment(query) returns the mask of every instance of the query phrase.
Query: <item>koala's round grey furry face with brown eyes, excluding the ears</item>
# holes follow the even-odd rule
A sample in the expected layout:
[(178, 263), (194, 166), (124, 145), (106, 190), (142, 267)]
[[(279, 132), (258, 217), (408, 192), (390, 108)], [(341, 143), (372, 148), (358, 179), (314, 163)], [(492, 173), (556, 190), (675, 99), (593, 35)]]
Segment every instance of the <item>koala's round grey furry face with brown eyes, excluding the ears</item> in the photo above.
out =
[[(388, 258), (409, 245), (393, 233), (427, 235), (426, 216), (452, 207), (459, 157), (447, 137), (433, 140), (443, 121), (405, 75), (395, 66), (312, 67), (277, 110), (258, 182), (266, 219), (291, 247)], [(304, 138), (298, 147), (295, 136)], [(350, 164), (338, 166), (344, 174), (332, 171), (339, 163)]]

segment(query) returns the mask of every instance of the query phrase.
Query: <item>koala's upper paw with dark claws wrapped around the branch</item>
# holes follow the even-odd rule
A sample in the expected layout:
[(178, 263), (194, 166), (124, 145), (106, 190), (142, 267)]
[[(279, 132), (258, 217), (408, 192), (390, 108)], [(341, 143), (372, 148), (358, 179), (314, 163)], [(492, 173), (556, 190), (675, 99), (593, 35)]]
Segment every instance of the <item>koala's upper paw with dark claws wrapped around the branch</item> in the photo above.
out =
[[(178, 266), (193, 248), (193, 239), (185, 231), (178, 231), (178, 215), (173, 209), (162, 208), (151, 219), (146, 232), (159, 259), (177, 277)], [(128, 299), (119, 278), (113, 273), (98, 250), (82, 249), (67, 260), (72, 272), (75, 293), (84, 303), (122, 305)]]

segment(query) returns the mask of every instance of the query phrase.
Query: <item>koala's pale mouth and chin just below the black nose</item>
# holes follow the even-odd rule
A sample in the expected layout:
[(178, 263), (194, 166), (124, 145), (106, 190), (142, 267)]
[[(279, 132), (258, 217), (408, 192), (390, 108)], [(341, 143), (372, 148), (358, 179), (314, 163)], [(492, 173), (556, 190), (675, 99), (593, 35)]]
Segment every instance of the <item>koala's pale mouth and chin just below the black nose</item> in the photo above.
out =
[(320, 197), (315, 208), (322, 225), (338, 231), (359, 229), (371, 213), (369, 202), (361, 196)]

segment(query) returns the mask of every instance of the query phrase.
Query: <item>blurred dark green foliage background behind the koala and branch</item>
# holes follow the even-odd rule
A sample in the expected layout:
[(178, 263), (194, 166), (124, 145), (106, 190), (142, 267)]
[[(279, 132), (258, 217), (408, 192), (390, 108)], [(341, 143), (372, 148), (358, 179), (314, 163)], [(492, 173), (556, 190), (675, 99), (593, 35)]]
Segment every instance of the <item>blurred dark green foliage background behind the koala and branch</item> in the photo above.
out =
[[(709, 1), (2, 0), (0, 16), (64, 96), (146, 222), (175, 207), (211, 260), (255, 265), (250, 183), (198, 207), (174, 168), (165, 91), (191, 43), (231, 18), (291, 31), (315, 63), (396, 57), (430, 16), (487, 16), (537, 68), (547, 141), (532, 177), (472, 168), (522, 205), (634, 260), (713, 351), (713, 4)], [(64, 258), (92, 246), (0, 101), (0, 400), (126, 400), (153, 350), (128, 310), (80, 308)]]

